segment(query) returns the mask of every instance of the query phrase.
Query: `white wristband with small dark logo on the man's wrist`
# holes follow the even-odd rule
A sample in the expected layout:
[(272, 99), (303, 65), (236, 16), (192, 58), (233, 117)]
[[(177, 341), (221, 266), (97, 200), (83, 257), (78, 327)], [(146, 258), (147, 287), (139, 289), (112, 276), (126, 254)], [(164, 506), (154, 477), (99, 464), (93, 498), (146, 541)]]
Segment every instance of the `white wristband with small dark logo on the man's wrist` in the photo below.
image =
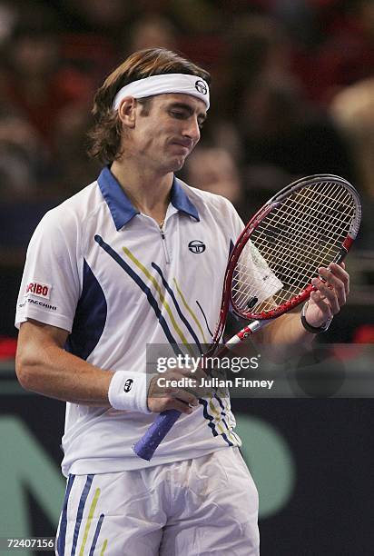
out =
[(147, 393), (145, 372), (117, 371), (109, 384), (108, 398), (114, 409), (151, 413), (147, 405)]

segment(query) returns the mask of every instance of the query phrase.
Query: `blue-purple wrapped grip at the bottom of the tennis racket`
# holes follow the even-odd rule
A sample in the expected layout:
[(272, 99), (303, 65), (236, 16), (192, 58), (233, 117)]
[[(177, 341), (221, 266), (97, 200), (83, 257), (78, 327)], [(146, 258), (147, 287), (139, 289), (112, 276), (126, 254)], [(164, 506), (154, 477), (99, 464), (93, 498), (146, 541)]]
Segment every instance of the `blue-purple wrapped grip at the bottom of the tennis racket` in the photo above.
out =
[(160, 413), (143, 437), (133, 445), (133, 452), (143, 460), (150, 462), (158, 445), (163, 441), (174, 422), (178, 421), (180, 416), (181, 412), (177, 410), (168, 410), (167, 412)]

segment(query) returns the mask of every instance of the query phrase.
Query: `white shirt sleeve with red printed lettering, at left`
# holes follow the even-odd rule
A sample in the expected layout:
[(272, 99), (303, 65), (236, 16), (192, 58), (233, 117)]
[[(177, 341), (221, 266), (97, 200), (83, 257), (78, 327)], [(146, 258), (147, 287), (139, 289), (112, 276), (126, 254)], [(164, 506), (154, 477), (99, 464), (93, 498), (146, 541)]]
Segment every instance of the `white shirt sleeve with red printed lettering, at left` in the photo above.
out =
[(83, 257), (79, 226), (57, 209), (44, 215), (27, 249), (15, 326), (27, 319), (72, 332), (81, 293)]

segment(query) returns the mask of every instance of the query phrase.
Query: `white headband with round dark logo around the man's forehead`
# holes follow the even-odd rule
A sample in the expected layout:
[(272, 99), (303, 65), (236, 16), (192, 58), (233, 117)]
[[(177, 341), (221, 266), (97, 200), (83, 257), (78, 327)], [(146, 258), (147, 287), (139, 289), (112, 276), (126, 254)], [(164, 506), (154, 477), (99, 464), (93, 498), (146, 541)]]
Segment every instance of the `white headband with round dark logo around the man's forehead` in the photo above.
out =
[(209, 109), (208, 84), (202, 77), (190, 74), (151, 75), (151, 77), (133, 81), (133, 83), (125, 85), (114, 96), (113, 108), (118, 110), (125, 96), (144, 98), (145, 96), (164, 93), (192, 94), (192, 96), (200, 98), (206, 104), (206, 109)]

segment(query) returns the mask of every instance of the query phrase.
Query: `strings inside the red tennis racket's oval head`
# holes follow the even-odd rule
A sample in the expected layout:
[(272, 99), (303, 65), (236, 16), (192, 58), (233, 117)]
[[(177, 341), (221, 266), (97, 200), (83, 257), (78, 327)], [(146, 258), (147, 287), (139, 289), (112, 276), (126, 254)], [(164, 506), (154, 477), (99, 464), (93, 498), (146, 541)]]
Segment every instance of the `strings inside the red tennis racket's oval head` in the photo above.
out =
[[(342, 184), (314, 183), (290, 194), (264, 218), (241, 252), (231, 288), (235, 308), (241, 313), (266, 312), (302, 292), (318, 275), (320, 266), (328, 266), (337, 258), (354, 214), (352, 196)], [(260, 264), (262, 280), (267, 278), (265, 295), (259, 293), (251, 245), (265, 263)], [(277, 288), (279, 281), (281, 289)], [(274, 289), (280, 291), (274, 293)]]

